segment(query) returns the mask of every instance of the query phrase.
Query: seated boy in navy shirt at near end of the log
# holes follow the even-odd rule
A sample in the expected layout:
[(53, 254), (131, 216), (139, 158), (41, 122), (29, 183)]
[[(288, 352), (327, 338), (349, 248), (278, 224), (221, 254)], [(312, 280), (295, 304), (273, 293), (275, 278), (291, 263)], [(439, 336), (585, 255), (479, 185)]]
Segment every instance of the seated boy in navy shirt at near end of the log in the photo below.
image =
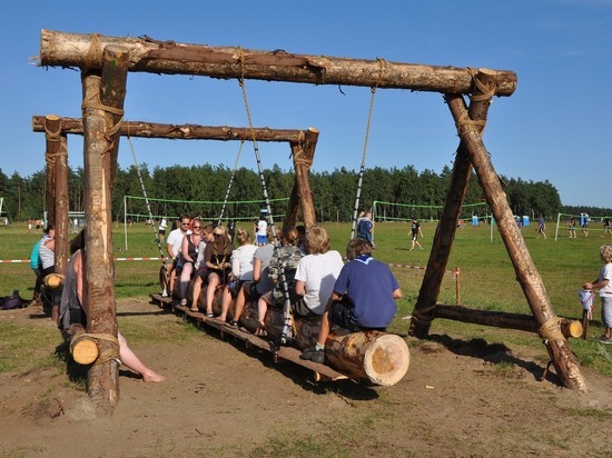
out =
[(325, 342), (333, 326), (351, 332), (384, 330), (397, 312), (395, 299), (402, 298), (399, 283), (384, 262), (372, 257), (372, 245), (353, 239), (346, 247), (346, 257), (349, 261), (334, 285), (317, 341), (302, 352), (302, 359), (325, 361)]

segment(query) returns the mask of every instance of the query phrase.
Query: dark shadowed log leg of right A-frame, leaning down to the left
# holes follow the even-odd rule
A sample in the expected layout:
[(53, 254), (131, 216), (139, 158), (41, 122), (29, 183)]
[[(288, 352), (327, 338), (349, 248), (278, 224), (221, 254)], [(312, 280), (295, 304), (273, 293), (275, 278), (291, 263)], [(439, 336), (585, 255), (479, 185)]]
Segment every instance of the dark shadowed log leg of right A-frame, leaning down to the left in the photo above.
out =
[[(495, 76), (494, 71), (485, 69), (480, 70), (475, 76), (477, 83), (474, 84), (472, 102), (467, 114), (478, 132), (484, 129), (486, 122), (491, 98), (495, 91)], [(456, 151), (455, 163), (453, 165), (444, 209), (436, 228), (430, 260), (427, 261), (423, 283), (421, 285), (413, 311), (408, 330), (408, 333), (412, 336), (423, 338), (430, 331), (471, 173), (472, 163), (470, 162), (470, 153), (465, 143), (461, 141)], [(458, 278), (456, 278), (456, 281), (458, 282)]]

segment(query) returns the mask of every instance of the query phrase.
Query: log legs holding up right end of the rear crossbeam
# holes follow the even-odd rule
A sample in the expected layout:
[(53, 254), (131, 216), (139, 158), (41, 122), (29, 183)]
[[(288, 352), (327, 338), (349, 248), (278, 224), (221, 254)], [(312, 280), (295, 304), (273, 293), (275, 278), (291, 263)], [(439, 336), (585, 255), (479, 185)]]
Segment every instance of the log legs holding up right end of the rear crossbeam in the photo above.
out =
[(287, 208), (285, 223), (295, 226), (297, 213), (302, 209), (302, 217), (306, 228), (316, 223), (315, 203), (310, 189), (310, 166), (315, 156), (315, 149), (318, 141), (318, 129), (309, 127), (306, 130), (304, 141), (292, 142), (292, 156), (294, 158), (295, 183)]

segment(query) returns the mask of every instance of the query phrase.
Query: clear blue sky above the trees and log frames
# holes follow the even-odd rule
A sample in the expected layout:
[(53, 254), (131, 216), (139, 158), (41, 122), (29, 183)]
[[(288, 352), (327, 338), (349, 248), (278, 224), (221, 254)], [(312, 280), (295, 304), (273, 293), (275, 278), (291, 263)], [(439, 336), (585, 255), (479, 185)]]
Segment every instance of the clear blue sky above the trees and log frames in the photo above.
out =
[[(612, 207), (612, 0), (244, 1), (12, 3), (0, 29), (0, 169), (42, 170), (45, 139), (33, 114), (80, 117), (78, 71), (40, 68), (40, 30), (147, 34), (157, 40), (436, 66), (512, 70), (512, 97), (495, 98), (484, 143), (497, 173), (549, 180), (564, 205)], [(96, 7), (103, 7), (96, 10)], [(36, 60), (34, 60), (36, 61)], [(368, 88), (247, 80), (255, 127), (320, 130), (315, 171), (358, 170)], [(238, 82), (130, 73), (125, 120), (248, 126)], [(457, 147), (442, 96), (378, 90), (366, 167), (442, 171)], [(234, 166), (238, 142), (132, 139), (139, 163)], [(80, 137), (68, 139), (69, 165), (82, 166)], [(265, 167), (292, 167), (286, 145), (259, 143)], [(121, 140), (119, 165), (134, 163)], [(255, 168), (245, 146), (239, 166)], [(154, 195), (155, 191), (149, 191)], [(205, 198), (205, 196), (203, 196)]]

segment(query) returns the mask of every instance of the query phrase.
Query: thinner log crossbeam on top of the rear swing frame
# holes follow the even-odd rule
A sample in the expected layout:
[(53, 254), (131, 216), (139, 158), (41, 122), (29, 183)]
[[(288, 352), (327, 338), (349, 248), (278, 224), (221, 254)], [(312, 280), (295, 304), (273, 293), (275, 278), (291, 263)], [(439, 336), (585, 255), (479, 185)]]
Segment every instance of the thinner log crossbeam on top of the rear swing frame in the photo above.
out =
[[(32, 131), (45, 132), (45, 116), (32, 116)], [(82, 136), (81, 118), (59, 118), (60, 133)], [(318, 132), (309, 127), (307, 131)], [(253, 135), (257, 141), (276, 141), (302, 143), (306, 131), (299, 129), (270, 129), (267, 127), (255, 128), (228, 126), (197, 126), (197, 125), (165, 125), (146, 121), (122, 121), (120, 135), (124, 137), (167, 138), (180, 140), (245, 140), (253, 141)]]

